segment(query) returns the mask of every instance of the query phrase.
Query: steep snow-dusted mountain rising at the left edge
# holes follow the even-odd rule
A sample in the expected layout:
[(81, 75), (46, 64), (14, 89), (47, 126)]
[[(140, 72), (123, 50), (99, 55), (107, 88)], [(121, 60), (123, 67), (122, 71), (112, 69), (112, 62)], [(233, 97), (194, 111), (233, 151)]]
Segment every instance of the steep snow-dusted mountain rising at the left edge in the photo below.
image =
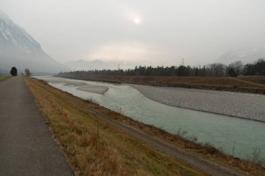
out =
[(19, 72), (60, 72), (63, 65), (45, 54), (40, 44), (0, 11), (0, 69), (17, 67)]

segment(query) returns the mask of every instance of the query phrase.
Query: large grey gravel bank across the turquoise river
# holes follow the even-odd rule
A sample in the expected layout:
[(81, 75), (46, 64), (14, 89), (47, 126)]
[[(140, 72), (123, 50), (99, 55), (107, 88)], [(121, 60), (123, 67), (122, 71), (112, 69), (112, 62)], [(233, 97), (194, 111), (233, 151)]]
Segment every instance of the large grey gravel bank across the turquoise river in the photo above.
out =
[(129, 85), (163, 104), (265, 122), (265, 95)]

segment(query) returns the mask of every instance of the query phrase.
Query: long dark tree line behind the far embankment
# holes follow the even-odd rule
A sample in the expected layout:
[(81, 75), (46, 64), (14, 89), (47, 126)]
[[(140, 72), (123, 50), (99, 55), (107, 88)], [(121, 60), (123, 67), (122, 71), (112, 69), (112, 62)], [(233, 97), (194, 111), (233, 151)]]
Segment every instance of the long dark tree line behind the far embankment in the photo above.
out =
[(229, 65), (211, 63), (203, 67), (191, 67), (190, 65), (146, 67), (140, 65), (134, 69), (126, 70), (82, 70), (61, 72), (59, 74), (179, 77), (237, 77), (241, 74), (245, 76), (265, 76), (265, 61), (263, 58), (259, 58), (256, 62), (245, 65), (241, 61), (235, 61)]

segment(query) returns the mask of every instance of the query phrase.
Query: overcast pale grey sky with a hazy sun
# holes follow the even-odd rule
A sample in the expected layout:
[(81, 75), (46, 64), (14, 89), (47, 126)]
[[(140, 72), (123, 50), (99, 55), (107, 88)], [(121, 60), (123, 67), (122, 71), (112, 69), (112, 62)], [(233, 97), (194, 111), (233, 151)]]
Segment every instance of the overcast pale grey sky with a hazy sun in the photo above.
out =
[(264, 0), (0, 0), (57, 61), (212, 63), (265, 41)]

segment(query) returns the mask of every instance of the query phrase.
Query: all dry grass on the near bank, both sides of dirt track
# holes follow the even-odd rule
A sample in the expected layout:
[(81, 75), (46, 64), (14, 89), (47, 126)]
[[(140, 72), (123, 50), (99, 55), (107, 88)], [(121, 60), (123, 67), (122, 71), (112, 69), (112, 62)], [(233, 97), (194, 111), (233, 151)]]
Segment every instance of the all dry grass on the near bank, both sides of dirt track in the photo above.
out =
[[(184, 131), (180, 131), (178, 135), (168, 134), (161, 129), (109, 111), (93, 102), (56, 90), (43, 81), (29, 78), (24, 80), (36, 97), (54, 138), (61, 144), (76, 175), (207, 175), (102, 120), (98, 121), (95, 113), (123, 122), (176, 144), (188, 152), (233, 167), (235, 170), (250, 175), (265, 173), (265, 168), (257, 164), (229, 157), (209, 144), (198, 145), (181, 138)], [(90, 113), (88, 110), (95, 113)], [(196, 141), (196, 138), (192, 141)]]

